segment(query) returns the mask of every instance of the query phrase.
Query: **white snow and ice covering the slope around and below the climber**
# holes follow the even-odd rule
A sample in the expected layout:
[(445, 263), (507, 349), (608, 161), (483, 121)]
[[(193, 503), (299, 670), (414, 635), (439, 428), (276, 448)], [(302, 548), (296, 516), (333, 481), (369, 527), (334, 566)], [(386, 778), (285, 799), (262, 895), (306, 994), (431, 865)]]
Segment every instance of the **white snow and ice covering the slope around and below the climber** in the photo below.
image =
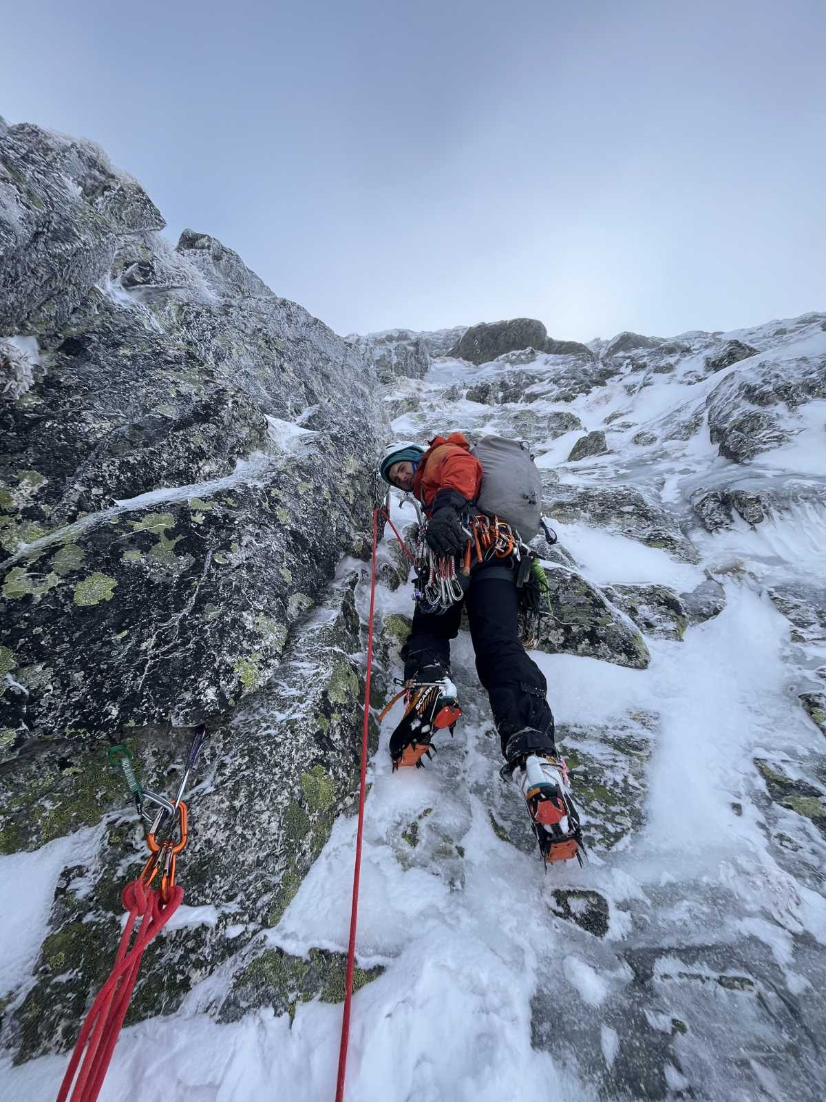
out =
[[(826, 333), (814, 323), (801, 328), (796, 346), (785, 329), (773, 335), (778, 325), (716, 339), (754, 345), (756, 363), (767, 348), (787, 363), (826, 350)], [(600, 842), (589, 804), (586, 835), (596, 841), (584, 869), (569, 863), (543, 872), (521, 799), (498, 777), (498, 742), (464, 634), (454, 679), (465, 716), (424, 770), (391, 773), (396, 705), (370, 764), (358, 958), (384, 972), (354, 1001), (354, 1102), (819, 1102), (826, 1093), (826, 811), (818, 811), (826, 807), (826, 745), (797, 699), (817, 685), (826, 641), (816, 633), (795, 641), (773, 599), (790, 585), (823, 585), (826, 508), (784, 501), (760, 523), (733, 516), (714, 532), (691, 519), (700, 485), (730, 488), (750, 477), (781, 496), (801, 479), (816, 486), (824, 402), (786, 410), (798, 419), (792, 442), (751, 465), (718, 455), (705, 412), (686, 439), (665, 439), (670, 425), (705, 411), (725, 375), (754, 367), (747, 359), (686, 381), (703, 363), (706, 336), (686, 335), (689, 352), (651, 386), (634, 390), (642, 372), (627, 371), (562, 407), (585, 430), (606, 429), (611, 454), (566, 464), (582, 435), (574, 432), (550, 442), (542, 465), (563, 485), (656, 493), (691, 532), (697, 563), (593, 517), (556, 518), (561, 543), (591, 582), (682, 592), (710, 571), (726, 606), (682, 640), (646, 638), (645, 670), (535, 655), (564, 753), (596, 757), (609, 778), (616, 768), (627, 790), (628, 813), (611, 844)], [(506, 367), (435, 360), (422, 403), (401, 414), (395, 430), (422, 434), (425, 422), (437, 421), (434, 430), (443, 431), (466, 417), (477, 430), (494, 430), (507, 412), (501, 406), (449, 404), (441, 396)], [(548, 385), (546, 398), (517, 407), (540, 413), (561, 403)], [(621, 410), (629, 429), (621, 418), (606, 421)], [(657, 440), (634, 444), (642, 429)], [(395, 508), (396, 522), (410, 519)], [(358, 596), (363, 613), (363, 583)], [(412, 590), (380, 588), (378, 603), (380, 615), (410, 613)], [(573, 782), (576, 793), (576, 768)], [(354, 839), (355, 819), (339, 819), (270, 931), (271, 944), (298, 954), (346, 948)], [(59, 852), (53, 843), (0, 858), (3, 928), (12, 931), (0, 950), (3, 980), (31, 966), (26, 947), (42, 939), (44, 900), (70, 861), (64, 851), (85, 844), (76, 835), (61, 841)], [(25, 910), (13, 888), (23, 882)], [(217, 1025), (205, 1007), (226, 982), (215, 975), (176, 1015), (127, 1029), (101, 1099), (332, 1100), (340, 1006), (298, 1003), (292, 1022), (257, 1012)], [(47, 1099), (64, 1066), (47, 1057), (6, 1067), (0, 1095)]]

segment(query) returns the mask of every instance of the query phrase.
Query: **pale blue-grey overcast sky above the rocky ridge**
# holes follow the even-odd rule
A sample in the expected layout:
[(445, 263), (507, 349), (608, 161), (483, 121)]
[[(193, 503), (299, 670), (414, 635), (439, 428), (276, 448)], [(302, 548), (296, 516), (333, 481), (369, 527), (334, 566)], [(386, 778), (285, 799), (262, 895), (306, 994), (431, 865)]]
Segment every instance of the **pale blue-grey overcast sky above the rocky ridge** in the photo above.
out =
[(823, 0), (26, 0), (0, 114), (340, 333), (826, 309)]

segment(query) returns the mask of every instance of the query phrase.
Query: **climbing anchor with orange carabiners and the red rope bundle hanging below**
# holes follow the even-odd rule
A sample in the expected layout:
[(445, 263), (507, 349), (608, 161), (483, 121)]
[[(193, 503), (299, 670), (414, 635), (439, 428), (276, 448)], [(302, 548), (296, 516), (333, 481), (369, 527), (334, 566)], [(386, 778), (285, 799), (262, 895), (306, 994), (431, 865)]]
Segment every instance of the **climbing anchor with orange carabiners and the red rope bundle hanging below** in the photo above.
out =
[(175, 883), (175, 877), (178, 854), (186, 847), (189, 838), (184, 793), (206, 738), (206, 727), (198, 727), (174, 801), (142, 788), (132, 754), (123, 743), (109, 747), (109, 761), (123, 774), (143, 822), (149, 857), (140, 874), (127, 884), (121, 894), (128, 918), (115, 964), (80, 1029), (57, 1102), (95, 1102), (97, 1099), (129, 1009), (144, 950), (183, 901), (184, 892)]

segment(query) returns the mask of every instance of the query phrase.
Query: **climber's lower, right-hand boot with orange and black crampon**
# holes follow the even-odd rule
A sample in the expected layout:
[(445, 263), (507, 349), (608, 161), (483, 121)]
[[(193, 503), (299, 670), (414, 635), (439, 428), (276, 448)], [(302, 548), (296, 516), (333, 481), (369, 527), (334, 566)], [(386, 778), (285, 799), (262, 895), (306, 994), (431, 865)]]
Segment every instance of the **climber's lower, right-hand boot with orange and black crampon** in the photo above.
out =
[(573, 857), (582, 865), (585, 846), (579, 817), (570, 798), (567, 766), (557, 757), (553, 738), (523, 728), (508, 739), (506, 756), (501, 775), (512, 776), (519, 785), (545, 867), (548, 861)]

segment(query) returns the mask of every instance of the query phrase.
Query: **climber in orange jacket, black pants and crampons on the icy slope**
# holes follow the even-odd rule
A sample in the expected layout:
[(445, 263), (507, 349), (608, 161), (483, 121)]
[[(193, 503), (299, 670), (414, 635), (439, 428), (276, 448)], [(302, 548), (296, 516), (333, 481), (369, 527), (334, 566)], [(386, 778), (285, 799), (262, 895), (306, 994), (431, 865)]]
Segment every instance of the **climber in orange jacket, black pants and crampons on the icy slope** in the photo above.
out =
[[(427, 450), (413, 441), (393, 443), (385, 449), (379, 469), (385, 483), (412, 493), (421, 501), (430, 548), (439, 557), (460, 558), (482, 480), (481, 464), (470, 454), (465, 436), (459, 432), (435, 436)], [(433, 687), (430, 692), (420, 692), (420, 700), (426, 702), (427, 719), (434, 722), (423, 724), (421, 706), (405, 711), (390, 741), (394, 766), (420, 765), (433, 728), (455, 722), (460, 714), (449, 670), (450, 639), (458, 635), (464, 604), (476, 669), (488, 692), (506, 758), (502, 776), (515, 775), (545, 861), (578, 856), (578, 820), (568, 795), (567, 769), (556, 753), (547, 683), (520, 641), (512, 558), (476, 562), (464, 583), (464, 598), (446, 611), (433, 613), (416, 605), (413, 628), (402, 650), (404, 681), (407, 685)], [(409, 693), (409, 700), (411, 696)], [(446, 719), (439, 723), (442, 709)], [(540, 823), (544, 831), (537, 830)], [(559, 842), (551, 855), (546, 852), (551, 850), (548, 835)], [(577, 841), (572, 841), (574, 838)]]

